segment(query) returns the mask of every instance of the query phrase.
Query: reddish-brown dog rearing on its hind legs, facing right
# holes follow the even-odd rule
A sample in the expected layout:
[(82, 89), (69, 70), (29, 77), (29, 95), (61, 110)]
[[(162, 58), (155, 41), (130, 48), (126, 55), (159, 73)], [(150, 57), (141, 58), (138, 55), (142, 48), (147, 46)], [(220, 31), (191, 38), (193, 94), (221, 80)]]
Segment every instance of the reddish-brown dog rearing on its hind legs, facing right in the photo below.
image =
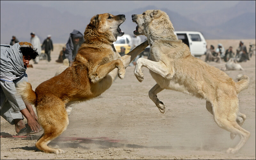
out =
[(124, 21), (125, 15), (104, 13), (92, 17), (72, 66), (41, 83), (35, 91), (27, 82), (18, 84), (23, 99), (35, 105), (38, 122), (44, 129), (36, 148), (45, 153), (65, 153), (47, 146), (68, 126), (65, 107), (99, 96), (111, 86), (117, 74), (123, 79), (125, 68), (148, 46), (145, 41), (127, 55), (119, 55), (113, 42), (124, 34), (119, 28)]

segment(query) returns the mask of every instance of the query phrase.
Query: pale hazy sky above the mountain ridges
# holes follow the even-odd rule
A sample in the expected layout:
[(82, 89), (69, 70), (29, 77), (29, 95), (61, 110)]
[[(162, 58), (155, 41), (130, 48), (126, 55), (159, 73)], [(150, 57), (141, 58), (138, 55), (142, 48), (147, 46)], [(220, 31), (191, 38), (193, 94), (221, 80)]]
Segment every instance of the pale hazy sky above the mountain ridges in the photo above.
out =
[[(2, 1), (2, 0), (1, 0)], [(223, 8), (235, 6), (239, 1), (8, 1), (9, 3), (39, 4), (45, 7), (52, 7), (61, 12), (68, 11), (75, 15), (84, 15), (84, 12), (106, 13), (111, 11), (132, 11), (148, 5), (159, 8), (166, 8), (186, 16), (191, 13), (211, 13)], [(139, 14), (139, 13), (138, 13)]]

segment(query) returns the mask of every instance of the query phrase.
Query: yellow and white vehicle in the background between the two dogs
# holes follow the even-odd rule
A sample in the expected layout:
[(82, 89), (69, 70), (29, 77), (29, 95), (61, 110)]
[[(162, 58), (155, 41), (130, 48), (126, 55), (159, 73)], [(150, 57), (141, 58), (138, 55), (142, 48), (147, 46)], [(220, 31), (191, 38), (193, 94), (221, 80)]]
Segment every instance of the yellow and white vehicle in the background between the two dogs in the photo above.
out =
[(132, 37), (129, 34), (124, 34), (121, 37), (117, 37), (116, 42), (114, 42), (113, 44), (118, 53), (121, 52), (121, 47), (123, 46), (125, 48), (125, 54), (127, 54), (131, 50), (131, 42)]

